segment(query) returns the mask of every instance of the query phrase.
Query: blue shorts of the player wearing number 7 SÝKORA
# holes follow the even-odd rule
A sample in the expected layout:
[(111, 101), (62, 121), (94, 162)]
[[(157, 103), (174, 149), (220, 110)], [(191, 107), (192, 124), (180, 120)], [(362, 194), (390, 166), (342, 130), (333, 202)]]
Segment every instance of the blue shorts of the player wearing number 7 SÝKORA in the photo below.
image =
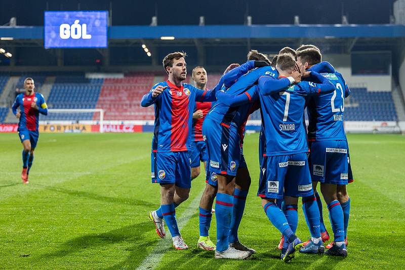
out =
[(263, 157), (257, 196), (282, 199), (313, 194), (307, 153)]

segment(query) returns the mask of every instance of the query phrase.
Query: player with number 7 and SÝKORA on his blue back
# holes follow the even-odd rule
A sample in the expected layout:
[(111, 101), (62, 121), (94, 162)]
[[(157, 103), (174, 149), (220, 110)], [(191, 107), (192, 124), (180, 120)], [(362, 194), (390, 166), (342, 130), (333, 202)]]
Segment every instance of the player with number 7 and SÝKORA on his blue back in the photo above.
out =
[[(293, 55), (278, 55), (276, 69), (279, 78), (290, 76), (295, 67)], [(308, 146), (302, 122), (305, 97), (334, 90), (331, 82), (320, 74), (311, 72), (311, 77), (320, 84), (300, 82), (279, 92), (270, 87), (270, 82), (274, 79), (262, 76), (258, 86), (250, 88), (244, 94), (232, 96), (217, 93), (219, 101), (228, 105), (239, 105), (260, 98), (266, 141), (258, 196), (262, 198), (262, 206), (271, 223), (285, 236), (286, 241), (280, 256), (284, 261), (290, 260), (295, 250), (302, 246), (301, 240), (295, 235), (298, 197), (307, 198), (313, 195), (306, 156)], [(283, 197), (286, 214), (274, 203), (276, 199)], [(322, 253), (324, 248), (316, 204), (308, 203), (306, 213), (311, 225), (311, 236), (318, 246), (318, 252)]]

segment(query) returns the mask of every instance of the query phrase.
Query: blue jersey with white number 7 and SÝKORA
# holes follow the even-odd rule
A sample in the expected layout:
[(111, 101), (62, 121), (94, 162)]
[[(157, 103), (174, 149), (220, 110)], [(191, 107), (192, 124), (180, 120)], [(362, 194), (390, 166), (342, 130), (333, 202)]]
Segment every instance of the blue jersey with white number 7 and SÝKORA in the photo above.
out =
[[(307, 95), (332, 91), (334, 86), (319, 74), (311, 72), (322, 84), (300, 82), (276, 94), (264, 95), (260, 88), (262, 123), (265, 134), (263, 156), (290, 155), (308, 151), (302, 117)], [(261, 83), (259, 82), (259, 86)]]

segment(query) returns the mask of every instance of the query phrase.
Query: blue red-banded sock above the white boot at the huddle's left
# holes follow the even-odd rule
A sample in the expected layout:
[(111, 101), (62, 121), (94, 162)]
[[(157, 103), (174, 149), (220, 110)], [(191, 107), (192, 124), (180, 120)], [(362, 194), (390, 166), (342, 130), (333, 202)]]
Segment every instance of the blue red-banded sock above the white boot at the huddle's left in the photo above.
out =
[(217, 251), (222, 252), (228, 249), (229, 229), (232, 222), (233, 196), (217, 193), (215, 201), (215, 217), (217, 218)]

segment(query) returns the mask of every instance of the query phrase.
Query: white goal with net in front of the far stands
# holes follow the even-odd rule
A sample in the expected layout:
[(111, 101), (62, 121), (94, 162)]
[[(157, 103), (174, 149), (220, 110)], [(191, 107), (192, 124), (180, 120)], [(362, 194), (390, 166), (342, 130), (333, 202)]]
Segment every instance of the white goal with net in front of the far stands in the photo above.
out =
[(103, 109), (48, 109), (39, 120), (42, 132), (104, 132)]

